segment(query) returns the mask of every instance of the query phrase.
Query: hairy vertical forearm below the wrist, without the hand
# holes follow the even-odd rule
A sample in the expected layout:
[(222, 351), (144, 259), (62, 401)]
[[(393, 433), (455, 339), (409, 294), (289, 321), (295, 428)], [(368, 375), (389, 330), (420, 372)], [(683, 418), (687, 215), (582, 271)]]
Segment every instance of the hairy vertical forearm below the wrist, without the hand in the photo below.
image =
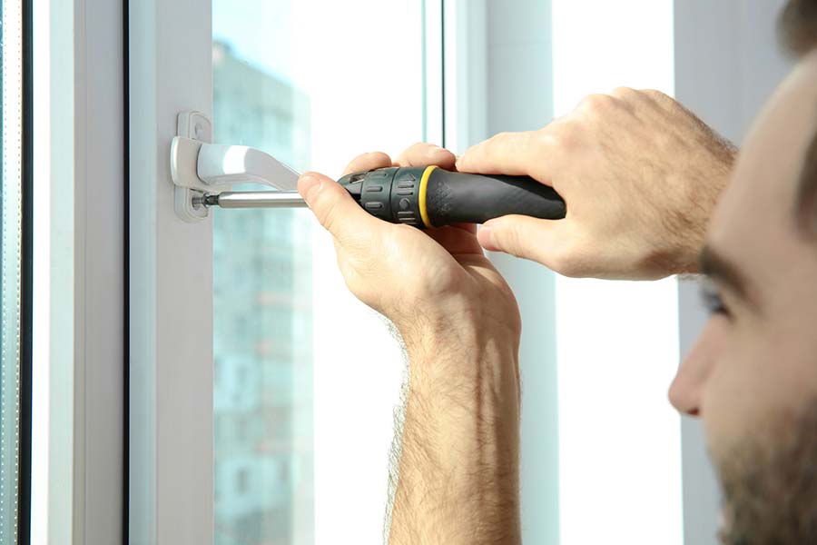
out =
[(518, 543), (517, 333), (427, 335), (407, 350), (389, 543)]

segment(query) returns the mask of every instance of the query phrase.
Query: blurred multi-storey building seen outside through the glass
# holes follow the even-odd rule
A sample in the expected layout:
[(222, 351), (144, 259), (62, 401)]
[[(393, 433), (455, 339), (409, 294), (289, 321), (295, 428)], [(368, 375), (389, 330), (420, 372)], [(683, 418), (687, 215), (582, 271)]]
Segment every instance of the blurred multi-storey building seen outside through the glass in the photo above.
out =
[[(212, 55), (214, 141), (309, 164), (309, 97), (228, 43)], [(312, 542), (310, 221), (213, 215), (215, 543)]]

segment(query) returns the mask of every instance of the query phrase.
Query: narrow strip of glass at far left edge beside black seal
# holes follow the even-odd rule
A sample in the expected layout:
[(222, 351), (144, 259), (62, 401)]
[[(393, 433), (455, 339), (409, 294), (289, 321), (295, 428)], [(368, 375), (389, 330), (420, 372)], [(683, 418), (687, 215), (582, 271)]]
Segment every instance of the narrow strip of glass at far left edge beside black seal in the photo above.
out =
[(0, 9), (0, 543), (17, 540), (20, 451), (22, 52), (19, 2)]

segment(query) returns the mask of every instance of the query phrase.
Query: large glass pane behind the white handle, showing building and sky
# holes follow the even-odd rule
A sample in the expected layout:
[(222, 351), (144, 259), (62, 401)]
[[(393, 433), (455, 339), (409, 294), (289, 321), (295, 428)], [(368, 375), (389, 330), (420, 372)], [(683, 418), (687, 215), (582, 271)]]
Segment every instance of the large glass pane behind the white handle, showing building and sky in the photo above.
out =
[[(405, 39), (376, 37), (396, 21)], [(413, 0), (213, 0), (214, 141), (334, 176), (362, 152), (398, 153), (422, 138), (421, 22)], [(213, 216), (215, 543), (348, 542), (341, 525), (372, 542), (362, 536), (381, 531), (392, 401), (361, 401), (366, 381), (333, 363), (399, 370), (399, 352), (384, 355), (388, 332), (357, 318), (309, 211)], [(368, 335), (349, 356), (345, 321)], [(358, 432), (386, 444), (360, 446)]]

